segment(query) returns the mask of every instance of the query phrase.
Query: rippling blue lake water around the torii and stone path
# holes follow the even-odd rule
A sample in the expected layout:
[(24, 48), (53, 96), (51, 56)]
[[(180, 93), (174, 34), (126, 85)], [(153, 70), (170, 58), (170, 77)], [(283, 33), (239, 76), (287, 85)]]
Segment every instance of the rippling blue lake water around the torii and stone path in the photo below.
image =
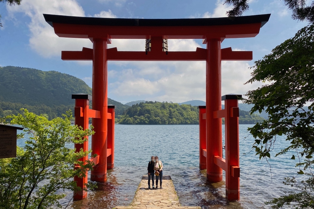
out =
[[(269, 208), (264, 202), (289, 190), (281, 182), (285, 176), (296, 175), (292, 154), (259, 160), (252, 150), (254, 139), (247, 127), (239, 125), (240, 136), (240, 201), (225, 200), (225, 182), (210, 184), (206, 170), (200, 171), (198, 125), (119, 125), (115, 126), (115, 168), (108, 171), (108, 181), (88, 192), (88, 197), (76, 201), (73, 208), (113, 208), (131, 203), (138, 184), (147, 174), (152, 155), (158, 155), (164, 165), (164, 175), (171, 175), (182, 206), (202, 208)], [(224, 125), (223, 125), (224, 138)], [(89, 140), (89, 146), (90, 146)], [(276, 151), (289, 144), (277, 137)], [(23, 146), (23, 140), (18, 141)], [(251, 152), (250, 152), (251, 151)], [(271, 167), (270, 167), (271, 166)], [(225, 175), (225, 174), (224, 174)], [(72, 192), (68, 192), (68, 197)]]

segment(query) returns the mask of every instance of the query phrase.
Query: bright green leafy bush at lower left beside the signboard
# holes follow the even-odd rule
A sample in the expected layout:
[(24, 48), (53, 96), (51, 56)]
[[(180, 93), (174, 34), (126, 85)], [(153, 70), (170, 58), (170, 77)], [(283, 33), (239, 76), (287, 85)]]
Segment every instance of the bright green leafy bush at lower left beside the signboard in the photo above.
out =
[[(76, 153), (67, 144), (83, 143), (84, 136), (94, 132), (71, 125), (71, 112), (49, 121), (25, 109), (24, 114), (7, 118), (11, 119), (11, 124), (24, 128), (18, 138), (26, 134), (30, 139), (23, 148), (18, 147), (16, 158), (0, 159), (0, 208), (62, 207), (58, 202), (65, 196), (62, 191), (78, 191), (73, 177), (85, 176), (93, 166), (91, 162), (83, 165), (78, 161), (90, 151)], [(80, 167), (73, 170), (75, 164)], [(87, 186), (91, 186), (90, 183)]]

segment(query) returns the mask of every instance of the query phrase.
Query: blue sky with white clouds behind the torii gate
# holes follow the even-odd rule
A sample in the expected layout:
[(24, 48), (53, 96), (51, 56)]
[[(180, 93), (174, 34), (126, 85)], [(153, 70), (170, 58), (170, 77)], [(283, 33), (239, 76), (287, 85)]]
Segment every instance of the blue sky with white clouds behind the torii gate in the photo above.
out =
[[(59, 71), (92, 86), (92, 61), (63, 61), (62, 50), (92, 48), (89, 39), (58, 37), (43, 13), (104, 18), (215, 18), (225, 17), (230, 6), (221, 0), (22, 0), (19, 6), (0, 3), (0, 66)], [(222, 95), (245, 94), (261, 83), (244, 85), (250, 66), (306, 26), (291, 18), (283, 1), (251, 0), (243, 15), (271, 13), (254, 38), (225, 39), (221, 47), (253, 51), (252, 61), (222, 61)], [(170, 39), (169, 51), (206, 48), (199, 39)], [(144, 51), (144, 39), (112, 39), (108, 48)], [(1, 78), (0, 78), (1, 79)], [(0, 80), (1, 82), (1, 80)], [(205, 101), (205, 61), (109, 61), (108, 97), (126, 103), (135, 100)]]

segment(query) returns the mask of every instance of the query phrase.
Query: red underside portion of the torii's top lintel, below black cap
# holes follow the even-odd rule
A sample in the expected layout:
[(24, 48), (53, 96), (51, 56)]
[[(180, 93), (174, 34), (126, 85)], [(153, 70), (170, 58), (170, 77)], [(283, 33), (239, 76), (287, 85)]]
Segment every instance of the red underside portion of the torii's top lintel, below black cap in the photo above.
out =
[[(255, 37), (261, 23), (211, 26), (101, 26), (52, 23), (55, 34), (85, 39), (210, 39)], [(108, 35), (109, 34), (109, 35)]]

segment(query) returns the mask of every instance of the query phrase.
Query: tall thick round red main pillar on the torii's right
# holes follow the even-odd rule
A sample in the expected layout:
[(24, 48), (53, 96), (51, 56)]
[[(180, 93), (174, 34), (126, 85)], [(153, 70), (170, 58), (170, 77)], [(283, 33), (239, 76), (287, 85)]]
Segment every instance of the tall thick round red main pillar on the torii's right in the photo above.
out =
[(206, 169), (207, 180), (218, 182), (222, 180), (222, 169), (214, 164), (214, 156), (222, 157), (222, 120), (213, 114), (221, 110), (220, 39), (208, 39), (206, 45)]

